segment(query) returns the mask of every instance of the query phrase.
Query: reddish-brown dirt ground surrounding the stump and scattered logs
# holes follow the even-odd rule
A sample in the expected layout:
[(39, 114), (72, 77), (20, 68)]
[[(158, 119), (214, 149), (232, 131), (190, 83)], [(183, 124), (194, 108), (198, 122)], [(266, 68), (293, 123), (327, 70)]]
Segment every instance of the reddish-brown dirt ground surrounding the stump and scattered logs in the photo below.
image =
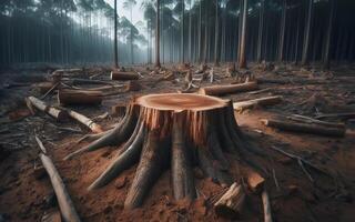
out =
[[(143, 67), (135, 69), (144, 75), (139, 80), (143, 87), (141, 91), (108, 97), (102, 105), (70, 108), (94, 118), (104, 112), (111, 113), (112, 105), (126, 104), (132, 97), (152, 92), (175, 92), (183, 88), (182, 74), (178, 74), (175, 81), (161, 81), (155, 84), (161, 75), (149, 75), (149, 71)], [(266, 128), (260, 121), (263, 118), (290, 114), (314, 117), (316, 113), (354, 112), (355, 68), (346, 65), (324, 72), (318, 69), (300, 70), (293, 65), (276, 65), (273, 71), (262, 71), (256, 65), (251, 65), (250, 71), (256, 78), (322, 80), (321, 83), (260, 83), (260, 89), (268, 90), (223, 97), (234, 102), (266, 95), (283, 97), (282, 103), (276, 105), (235, 112), (236, 121), (247, 139), (266, 153), (265, 157), (253, 158), (273, 169), (274, 173), (267, 178), (266, 185), (275, 221), (355, 221), (355, 120), (328, 119), (346, 124), (347, 133), (344, 138), (278, 131)], [(97, 72), (102, 73), (102, 80), (108, 80), (108, 71), (97, 69)], [(225, 65), (215, 68), (214, 72), (215, 81), (205, 81), (203, 85), (235, 81), (226, 77)], [(74, 121), (55, 122), (41, 112), (31, 115), (23, 98), (40, 97), (39, 92), (32, 85), (11, 87), (13, 82), (41, 82), (47, 75), (47, 70), (13, 70), (0, 75), (0, 221), (41, 221), (45, 212), (55, 209), (49, 179), (34, 176), (34, 165), (40, 164), (40, 150), (34, 134), (43, 141), (53, 159), (82, 221), (229, 221), (214, 213), (211, 200), (221, 193), (223, 188), (211, 179), (203, 178), (197, 169), (194, 169), (194, 174), (199, 198), (192, 202), (174, 201), (169, 170), (155, 183), (143, 206), (136, 210), (123, 210), (135, 168), (124, 171), (104, 188), (88, 192), (87, 188), (108, 167), (119, 149), (104, 148), (73, 160), (63, 160), (70, 152), (88, 144), (73, 144), (89, 133), (88, 129)], [(54, 104), (55, 94), (47, 98), (47, 102)], [(113, 115), (97, 119), (105, 129), (119, 121), (120, 117)], [(82, 132), (61, 131), (58, 127), (81, 129)], [(338, 176), (332, 180), (317, 171), (308, 170), (315, 180), (312, 183), (295, 160), (275, 152), (272, 145), (296, 153)], [(242, 169), (231, 167), (233, 174), (244, 175), (247, 170), (244, 165)], [(239, 221), (263, 221), (262, 201), (257, 194), (248, 193)]]

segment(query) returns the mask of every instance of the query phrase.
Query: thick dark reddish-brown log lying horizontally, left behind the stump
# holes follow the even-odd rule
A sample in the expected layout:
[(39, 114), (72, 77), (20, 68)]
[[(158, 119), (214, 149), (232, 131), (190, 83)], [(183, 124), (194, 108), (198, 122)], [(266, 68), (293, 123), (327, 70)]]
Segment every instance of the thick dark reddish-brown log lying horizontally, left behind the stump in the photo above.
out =
[(100, 104), (102, 92), (83, 90), (59, 90), (59, 104)]

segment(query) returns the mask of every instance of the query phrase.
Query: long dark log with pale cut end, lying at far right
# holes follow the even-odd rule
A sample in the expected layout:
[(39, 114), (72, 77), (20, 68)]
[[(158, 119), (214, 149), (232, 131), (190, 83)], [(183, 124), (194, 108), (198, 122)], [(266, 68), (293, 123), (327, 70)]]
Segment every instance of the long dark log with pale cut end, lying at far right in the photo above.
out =
[(303, 132), (312, 133), (320, 135), (329, 135), (329, 137), (344, 137), (345, 129), (339, 128), (327, 128), (316, 124), (304, 124), (304, 123), (294, 123), (290, 121), (282, 120), (261, 120), (266, 127), (276, 128), (280, 130), (292, 131), (292, 132)]

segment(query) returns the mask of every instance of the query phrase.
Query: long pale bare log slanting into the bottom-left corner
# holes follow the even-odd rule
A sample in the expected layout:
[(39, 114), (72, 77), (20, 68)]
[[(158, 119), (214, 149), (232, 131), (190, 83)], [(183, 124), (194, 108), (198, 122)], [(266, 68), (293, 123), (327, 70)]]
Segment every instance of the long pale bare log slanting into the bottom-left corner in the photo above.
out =
[(75, 211), (74, 204), (70, 199), (64, 182), (60, 178), (52, 160), (43, 153), (40, 154), (40, 159), (53, 185), (63, 220), (65, 222), (80, 222), (80, 218)]

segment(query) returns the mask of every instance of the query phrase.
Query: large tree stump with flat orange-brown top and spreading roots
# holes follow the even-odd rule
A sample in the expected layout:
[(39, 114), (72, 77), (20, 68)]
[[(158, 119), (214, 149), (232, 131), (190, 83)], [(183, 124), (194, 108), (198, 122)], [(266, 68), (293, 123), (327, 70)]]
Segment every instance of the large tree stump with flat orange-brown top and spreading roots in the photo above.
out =
[(225, 153), (250, 155), (244, 138), (231, 101), (187, 93), (150, 94), (132, 101), (118, 127), (65, 159), (109, 145), (120, 147), (119, 154), (89, 190), (102, 188), (138, 163), (124, 203), (125, 209), (134, 209), (169, 168), (176, 200), (196, 196), (193, 167), (216, 183), (231, 185), (231, 162)]

